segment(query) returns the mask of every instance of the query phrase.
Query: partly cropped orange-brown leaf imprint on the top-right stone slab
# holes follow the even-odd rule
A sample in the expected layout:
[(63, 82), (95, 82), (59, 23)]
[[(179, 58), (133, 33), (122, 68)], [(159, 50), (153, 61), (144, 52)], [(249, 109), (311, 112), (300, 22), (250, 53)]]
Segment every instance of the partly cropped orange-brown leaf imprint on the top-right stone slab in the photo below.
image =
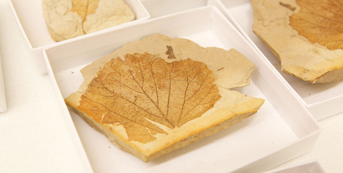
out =
[(343, 49), (343, 0), (297, 0), (289, 22), (300, 35), (329, 50)]

